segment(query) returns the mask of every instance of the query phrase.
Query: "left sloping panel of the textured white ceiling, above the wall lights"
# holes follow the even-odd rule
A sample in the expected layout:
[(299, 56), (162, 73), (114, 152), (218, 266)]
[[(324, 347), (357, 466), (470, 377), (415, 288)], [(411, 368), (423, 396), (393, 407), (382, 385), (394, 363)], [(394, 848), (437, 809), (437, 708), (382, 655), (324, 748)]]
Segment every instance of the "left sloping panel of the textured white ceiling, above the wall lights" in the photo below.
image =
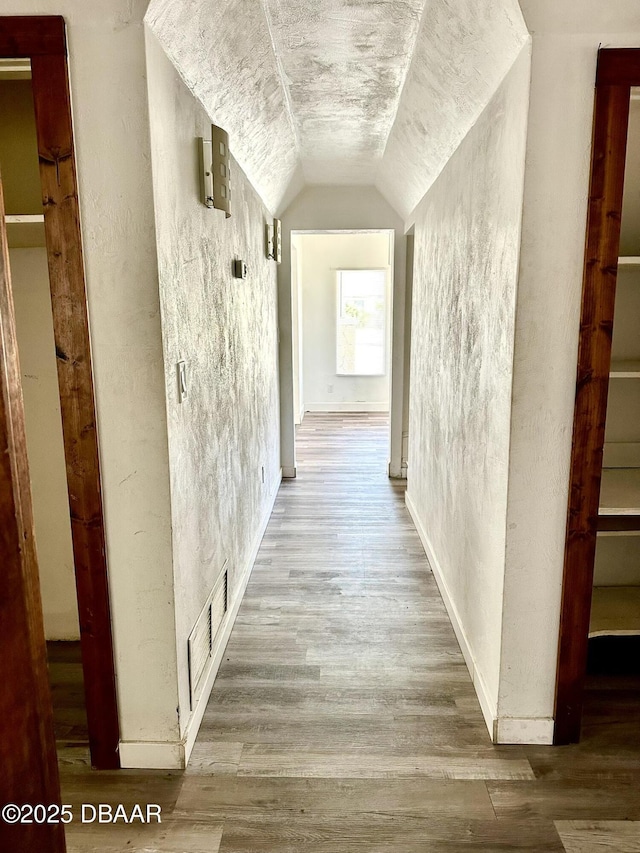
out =
[(275, 210), (298, 145), (261, 0), (152, 0), (145, 23)]

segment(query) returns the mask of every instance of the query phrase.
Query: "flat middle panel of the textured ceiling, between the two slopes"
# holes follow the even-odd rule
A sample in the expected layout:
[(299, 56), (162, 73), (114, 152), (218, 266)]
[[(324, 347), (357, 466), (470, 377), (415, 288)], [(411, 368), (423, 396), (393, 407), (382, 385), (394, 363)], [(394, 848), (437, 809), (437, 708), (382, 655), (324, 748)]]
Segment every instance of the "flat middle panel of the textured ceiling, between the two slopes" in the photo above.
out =
[(368, 183), (425, 0), (265, 0), (309, 183)]

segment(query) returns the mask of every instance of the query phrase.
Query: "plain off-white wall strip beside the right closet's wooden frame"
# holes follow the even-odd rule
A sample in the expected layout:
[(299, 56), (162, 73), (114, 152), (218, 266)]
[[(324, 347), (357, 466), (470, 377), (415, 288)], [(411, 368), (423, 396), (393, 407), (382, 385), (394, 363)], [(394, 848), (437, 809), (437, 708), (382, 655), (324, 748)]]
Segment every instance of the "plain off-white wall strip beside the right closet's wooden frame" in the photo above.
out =
[(640, 44), (633, 0), (522, 7), (534, 38), (498, 700), (506, 721), (553, 716), (597, 51)]

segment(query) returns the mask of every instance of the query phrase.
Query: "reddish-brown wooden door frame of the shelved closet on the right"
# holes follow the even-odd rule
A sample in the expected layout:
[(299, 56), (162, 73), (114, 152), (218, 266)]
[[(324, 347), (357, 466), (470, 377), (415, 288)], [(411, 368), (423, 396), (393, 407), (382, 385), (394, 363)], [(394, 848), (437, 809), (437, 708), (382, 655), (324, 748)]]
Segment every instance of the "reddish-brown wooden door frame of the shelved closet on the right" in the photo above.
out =
[(554, 743), (580, 738), (598, 529), (631, 87), (640, 49), (598, 52)]

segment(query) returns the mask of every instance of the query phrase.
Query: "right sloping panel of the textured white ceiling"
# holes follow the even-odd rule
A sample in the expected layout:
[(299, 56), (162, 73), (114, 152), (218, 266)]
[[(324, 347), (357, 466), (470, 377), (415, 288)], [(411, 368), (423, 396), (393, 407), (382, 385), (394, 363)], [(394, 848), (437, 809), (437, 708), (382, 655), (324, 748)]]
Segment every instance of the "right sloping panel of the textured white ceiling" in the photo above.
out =
[(405, 219), (528, 39), (517, 0), (430, 0), (376, 180)]

